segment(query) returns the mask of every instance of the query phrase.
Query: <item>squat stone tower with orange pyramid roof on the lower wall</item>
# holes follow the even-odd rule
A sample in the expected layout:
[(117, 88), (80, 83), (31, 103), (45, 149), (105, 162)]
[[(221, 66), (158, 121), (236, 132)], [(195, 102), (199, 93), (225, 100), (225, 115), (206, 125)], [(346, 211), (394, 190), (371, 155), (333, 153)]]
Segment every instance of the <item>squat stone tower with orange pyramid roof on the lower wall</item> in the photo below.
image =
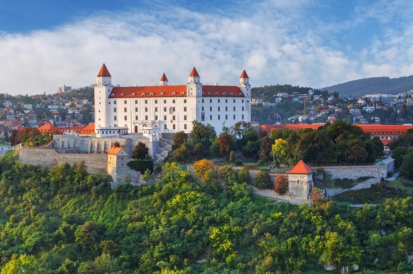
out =
[(288, 172), (288, 194), (296, 199), (309, 199), (313, 187), (313, 171), (301, 160)]

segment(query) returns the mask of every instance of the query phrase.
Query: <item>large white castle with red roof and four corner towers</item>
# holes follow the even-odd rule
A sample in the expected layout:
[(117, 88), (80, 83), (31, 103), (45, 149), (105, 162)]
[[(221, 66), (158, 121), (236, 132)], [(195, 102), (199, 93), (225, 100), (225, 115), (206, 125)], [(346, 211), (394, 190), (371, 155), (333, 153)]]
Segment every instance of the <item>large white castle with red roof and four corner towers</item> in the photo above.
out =
[(171, 86), (165, 74), (159, 86), (115, 87), (105, 64), (95, 86), (96, 136), (118, 133), (190, 133), (192, 121), (211, 124), (219, 133), (222, 124), (251, 122), (251, 85), (245, 71), (238, 86), (202, 85), (192, 69), (186, 85)]

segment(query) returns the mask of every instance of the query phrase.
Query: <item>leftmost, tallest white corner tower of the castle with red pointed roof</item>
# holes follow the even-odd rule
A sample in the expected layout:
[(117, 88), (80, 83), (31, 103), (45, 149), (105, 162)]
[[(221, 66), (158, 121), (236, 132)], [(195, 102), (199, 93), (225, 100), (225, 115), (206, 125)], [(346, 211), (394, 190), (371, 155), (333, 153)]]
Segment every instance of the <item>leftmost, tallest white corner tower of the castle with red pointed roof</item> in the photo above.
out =
[(95, 132), (100, 127), (107, 127), (107, 102), (112, 86), (112, 76), (103, 64), (96, 76), (95, 86)]

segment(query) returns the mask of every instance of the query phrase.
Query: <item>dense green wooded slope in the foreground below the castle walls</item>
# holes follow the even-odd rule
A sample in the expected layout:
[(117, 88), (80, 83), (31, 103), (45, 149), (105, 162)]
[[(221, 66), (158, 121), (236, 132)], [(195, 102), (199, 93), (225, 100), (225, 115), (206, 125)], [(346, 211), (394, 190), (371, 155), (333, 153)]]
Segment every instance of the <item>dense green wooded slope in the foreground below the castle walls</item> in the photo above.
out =
[(2, 274), (413, 270), (411, 197), (363, 208), (273, 204), (230, 168), (202, 181), (175, 163), (154, 185), (114, 191), (83, 164), (50, 170), (2, 157), (0, 169)]

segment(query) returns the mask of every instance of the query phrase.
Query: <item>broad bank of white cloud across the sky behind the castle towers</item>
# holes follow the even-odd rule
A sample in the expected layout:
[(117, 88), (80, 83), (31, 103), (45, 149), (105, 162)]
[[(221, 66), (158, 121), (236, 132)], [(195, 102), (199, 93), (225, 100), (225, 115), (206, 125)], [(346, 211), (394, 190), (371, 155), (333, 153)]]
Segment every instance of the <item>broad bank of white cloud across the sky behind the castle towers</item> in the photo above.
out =
[[(317, 3), (254, 5), (251, 16), (246, 12), (223, 17), (183, 8), (104, 12), (53, 30), (3, 34), (2, 92), (52, 93), (63, 83), (85, 86), (95, 82), (103, 62), (113, 82), (125, 86), (157, 84), (163, 72), (171, 84), (183, 84), (193, 66), (202, 83), (225, 85), (236, 85), (243, 69), (253, 86), (322, 87), (363, 77), (413, 74), (412, 28), (406, 27), (402, 35), (389, 31), (385, 38), (377, 37), (370, 48), (355, 52), (355, 58), (324, 43), (340, 28), (356, 26), (306, 17), (309, 5)], [(369, 16), (378, 17), (374, 12)]]

